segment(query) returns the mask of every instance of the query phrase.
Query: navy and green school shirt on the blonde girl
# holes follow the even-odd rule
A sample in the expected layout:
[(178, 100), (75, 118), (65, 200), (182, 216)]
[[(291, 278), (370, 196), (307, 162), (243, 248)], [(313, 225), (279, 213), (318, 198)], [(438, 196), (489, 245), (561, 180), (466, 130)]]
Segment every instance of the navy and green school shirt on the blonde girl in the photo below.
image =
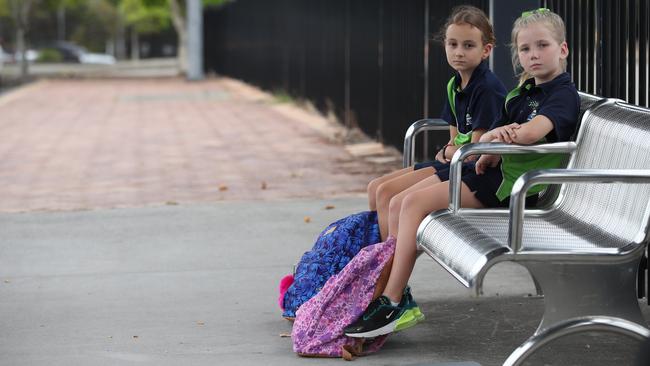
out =
[[(503, 126), (510, 123), (526, 123), (536, 116), (545, 116), (553, 123), (553, 130), (538, 143), (569, 141), (573, 137), (580, 113), (580, 97), (571, 76), (564, 72), (555, 79), (535, 85), (535, 79), (526, 80), (506, 97), (501, 118), (496, 123)], [(496, 127), (495, 126), (493, 127)], [(512, 186), (525, 172), (532, 169), (552, 169), (562, 164), (563, 154), (502, 155), (501, 172), (503, 181), (496, 192), (500, 201), (510, 196)], [(528, 195), (541, 192), (546, 186), (536, 185)]]

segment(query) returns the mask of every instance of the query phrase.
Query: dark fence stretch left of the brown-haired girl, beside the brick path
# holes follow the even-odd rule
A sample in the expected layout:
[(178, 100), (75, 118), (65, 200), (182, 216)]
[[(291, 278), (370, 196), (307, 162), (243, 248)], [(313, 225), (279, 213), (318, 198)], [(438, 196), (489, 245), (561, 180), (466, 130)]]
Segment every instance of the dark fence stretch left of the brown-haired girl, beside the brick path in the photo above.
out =
[[(488, 0), (465, 3), (488, 11)], [(205, 65), (307, 99), (346, 125), (401, 147), (406, 128), (438, 117), (445, 102), (452, 70), (432, 35), (455, 5), (239, 0), (205, 12)]]

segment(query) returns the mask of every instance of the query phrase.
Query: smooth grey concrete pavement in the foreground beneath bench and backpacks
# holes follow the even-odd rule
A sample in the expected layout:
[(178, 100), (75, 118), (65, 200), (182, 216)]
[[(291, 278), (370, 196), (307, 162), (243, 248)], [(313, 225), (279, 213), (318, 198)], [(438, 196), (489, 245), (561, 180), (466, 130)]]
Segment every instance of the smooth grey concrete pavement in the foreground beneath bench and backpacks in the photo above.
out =
[[(327, 223), (364, 205), (297, 199), (0, 214), (0, 365), (343, 362), (293, 354), (276, 287)], [(529, 296), (534, 286), (515, 265), (497, 266), (486, 296), (471, 298), (423, 256), (411, 286), (427, 319), (355, 363), (499, 365), (541, 316), (543, 300)], [(633, 351), (618, 336), (570, 337), (529, 365), (629, 365)]]

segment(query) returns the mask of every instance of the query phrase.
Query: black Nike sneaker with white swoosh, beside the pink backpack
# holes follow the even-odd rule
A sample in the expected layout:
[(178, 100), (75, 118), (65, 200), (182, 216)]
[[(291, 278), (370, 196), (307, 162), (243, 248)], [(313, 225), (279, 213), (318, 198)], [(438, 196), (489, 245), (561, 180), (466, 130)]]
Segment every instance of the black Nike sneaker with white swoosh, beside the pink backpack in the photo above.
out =
[(391, 305), (390, 299), (381, 295), (368, 305), (359, 319), (344, 329), (345, 335), (372, 338), (391, 333), (403, 312), (403, 308)]

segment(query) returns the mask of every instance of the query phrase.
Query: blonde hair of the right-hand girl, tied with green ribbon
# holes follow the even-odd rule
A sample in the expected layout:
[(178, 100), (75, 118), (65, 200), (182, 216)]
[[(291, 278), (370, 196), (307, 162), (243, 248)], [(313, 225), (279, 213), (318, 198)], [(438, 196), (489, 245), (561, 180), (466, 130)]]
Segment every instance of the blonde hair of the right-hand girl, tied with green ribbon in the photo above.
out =
[[(555, 14), (554, 12), (542, 8), (532, 11), (527, 11), (521, 14), (515, 24), (512, 27), (512, 37), (510, 43), (510, 51), (512, 53), (512, 67), (515, 71), (515, 75), (519, 76), (519, 84), (521, 85), (524, 81), (529, 79), (531, 76), (523, 70), (521, 62), (519, 61), (518, 49), (517, 49), (517, 36), (519, 32), (531, 24), (543, 24), (551, 32), (553, 39), (557, 41), (558, 44), (566, 42), (566, 27), (564, 26), (564, 21), (562, 17)], [(562, 60), (562, 70), (566, 70), (567, 62), (566, 59)]]

